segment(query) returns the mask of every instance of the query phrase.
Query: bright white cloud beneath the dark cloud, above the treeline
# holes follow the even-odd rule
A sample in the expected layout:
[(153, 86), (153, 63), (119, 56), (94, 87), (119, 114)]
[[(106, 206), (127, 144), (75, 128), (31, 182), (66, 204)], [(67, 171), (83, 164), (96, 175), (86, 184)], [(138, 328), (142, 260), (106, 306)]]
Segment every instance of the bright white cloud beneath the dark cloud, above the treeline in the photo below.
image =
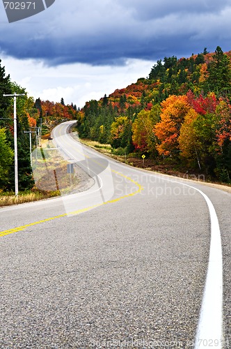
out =
[(139, 77), (147, 77), (154, 62), (129, 59), (125, 66), (65, 64), (48, 67), (32, 59), (3, 56), (1, 65), (12, 81), (26, 88), (29, 96), (42, 100), (74, 103), (83, 107), (90, 99), (99, 99), (115, 89), (127, 87)]

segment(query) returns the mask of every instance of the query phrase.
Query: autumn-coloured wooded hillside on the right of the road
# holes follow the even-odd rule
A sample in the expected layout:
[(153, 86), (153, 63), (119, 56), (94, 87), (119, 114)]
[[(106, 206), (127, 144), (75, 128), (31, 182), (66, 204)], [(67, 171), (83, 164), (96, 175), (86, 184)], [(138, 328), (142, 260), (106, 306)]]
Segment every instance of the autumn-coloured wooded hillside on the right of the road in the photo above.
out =
[(165, 57), (147, 78), (77, 112), (81, 138), (231, 182), (231, 51)]

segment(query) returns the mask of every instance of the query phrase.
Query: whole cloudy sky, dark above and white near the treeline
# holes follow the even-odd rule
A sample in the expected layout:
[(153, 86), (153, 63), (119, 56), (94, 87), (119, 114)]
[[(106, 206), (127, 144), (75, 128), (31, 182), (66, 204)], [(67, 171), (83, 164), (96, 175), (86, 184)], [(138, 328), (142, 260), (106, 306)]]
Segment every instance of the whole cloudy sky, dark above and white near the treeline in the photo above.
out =
[(34, 98), (81, 107), (147, 77), (158, 59), (231, 50), (230, 0), (56, 0), (13, 23), (3, 2), (1, 64)]

